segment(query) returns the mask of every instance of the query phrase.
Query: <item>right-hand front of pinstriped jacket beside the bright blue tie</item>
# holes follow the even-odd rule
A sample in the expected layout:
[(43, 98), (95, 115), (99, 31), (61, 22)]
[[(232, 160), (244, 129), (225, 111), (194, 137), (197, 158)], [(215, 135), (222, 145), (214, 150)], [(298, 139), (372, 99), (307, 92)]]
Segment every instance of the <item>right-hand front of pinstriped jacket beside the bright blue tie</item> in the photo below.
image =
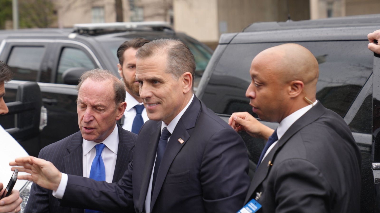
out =
[(117, 130), (119, 133), (119, 144), (117, 148), (116, 165), (114, 171), (114, 177), (112, 182), (117, 182), (122, 178), (125, 171), (128, 169), (128, 164), (133, 159), (133, 152), (131, 149), (135, 146), (135, 141), (128, 135), (128, 132), (123, 131), (123, 128), (117, 124)]

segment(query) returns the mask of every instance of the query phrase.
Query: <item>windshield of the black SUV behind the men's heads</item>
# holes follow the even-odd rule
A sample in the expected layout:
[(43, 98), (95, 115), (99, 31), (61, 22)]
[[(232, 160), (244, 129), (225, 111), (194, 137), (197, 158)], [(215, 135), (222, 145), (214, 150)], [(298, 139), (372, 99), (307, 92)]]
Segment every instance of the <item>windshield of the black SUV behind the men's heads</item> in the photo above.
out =
[[(130, 39), (130, 38), (127, 38)], [(153, 40), (150, 38), (147, 38), (149, 40)], [(178, 39), (178, 38), (176, 38)], [(182, 42), (184, 42), (187, 47), (190, 49), (190, 51), (193, 53), (196, 63), (195, 68), (195, 79), (194, 79), (194, 87), (198, 87), (198, 83), (200, 78), (202, 77), (202, 74), (204, 70), (206, 69), (207, 63), (209, 62), (212, 52), (205, 47), (203, 47), (202, 44), (199, 44), (197, 42), (190, 41), (188, 39), (180, 38)], [(107, 55), (111, 55), (110, 60), (113, 64), (119, 63), (119, 59), (116, 56), (117, 49), (119, 48), (120, 44), (122, 44), (126, 39), (120, 39), (120, 41), (108, 41), (108, 42), (101, 42), (101, 45), (103, 48), (108, 51)]]

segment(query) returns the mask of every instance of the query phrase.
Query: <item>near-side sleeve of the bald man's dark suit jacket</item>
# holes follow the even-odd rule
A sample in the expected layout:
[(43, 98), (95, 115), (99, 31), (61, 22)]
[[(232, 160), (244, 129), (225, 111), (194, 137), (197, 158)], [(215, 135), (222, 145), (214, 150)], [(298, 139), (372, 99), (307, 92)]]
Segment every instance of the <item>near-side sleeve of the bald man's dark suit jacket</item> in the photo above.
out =
[(304, 159), (283, 161), (273, 183), (276, 212), (328, 212), (333, 196), (323, 174)]

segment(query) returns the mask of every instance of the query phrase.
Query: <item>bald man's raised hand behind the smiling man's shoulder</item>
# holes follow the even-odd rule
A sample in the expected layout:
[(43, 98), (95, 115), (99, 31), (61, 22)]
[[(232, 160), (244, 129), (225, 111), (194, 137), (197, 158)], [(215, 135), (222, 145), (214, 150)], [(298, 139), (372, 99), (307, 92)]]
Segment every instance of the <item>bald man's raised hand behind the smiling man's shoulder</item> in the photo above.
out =
[(228, 124), (234, 128), (236, 132), (245, 131), (250, 136), (268, 140), (274, 130), (261, 124), (255, 117), (247, 112), (232, 113)]

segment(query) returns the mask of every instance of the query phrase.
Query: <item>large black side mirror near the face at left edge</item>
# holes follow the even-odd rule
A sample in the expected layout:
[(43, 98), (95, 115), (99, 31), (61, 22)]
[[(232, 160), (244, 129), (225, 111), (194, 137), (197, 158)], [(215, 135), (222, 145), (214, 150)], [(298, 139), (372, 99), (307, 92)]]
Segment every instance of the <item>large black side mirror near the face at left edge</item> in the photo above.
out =
[(18, 85), (16, 101), (6, 103), (8, 114), (16, 114), (15, 127), (6, 131), (15, 139), (29, 139), (40, 133), (42, 96), (36, 82)]

